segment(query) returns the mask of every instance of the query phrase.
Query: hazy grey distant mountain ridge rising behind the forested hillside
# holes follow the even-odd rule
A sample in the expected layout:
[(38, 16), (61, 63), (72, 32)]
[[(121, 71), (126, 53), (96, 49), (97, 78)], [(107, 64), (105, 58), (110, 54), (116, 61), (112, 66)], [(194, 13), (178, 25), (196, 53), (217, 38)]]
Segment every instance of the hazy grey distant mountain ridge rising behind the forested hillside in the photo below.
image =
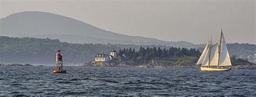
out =
[(68, 43), (194, 46), (194, 44), (187, 41), (163, 41), (118, 34), (49, 12), (26, 11), (14, 13), (0, 19), (0, 29), (1, 36), (51, 38)]

